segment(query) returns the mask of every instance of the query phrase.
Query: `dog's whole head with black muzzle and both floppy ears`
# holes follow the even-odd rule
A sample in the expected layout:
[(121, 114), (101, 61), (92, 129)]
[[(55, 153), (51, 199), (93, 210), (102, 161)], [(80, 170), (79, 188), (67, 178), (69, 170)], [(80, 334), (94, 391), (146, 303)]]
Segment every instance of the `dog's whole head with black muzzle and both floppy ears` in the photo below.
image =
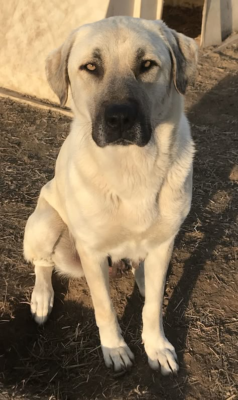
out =
[(162, 21), (112, 17), (74, 31), (49, 55), (46, 71), (61, 105), (70, 84), (74, 108), (90, 121), (99, 147), (143, 147), (171, 91), (185, 93), (196, 53), (192, 39)]

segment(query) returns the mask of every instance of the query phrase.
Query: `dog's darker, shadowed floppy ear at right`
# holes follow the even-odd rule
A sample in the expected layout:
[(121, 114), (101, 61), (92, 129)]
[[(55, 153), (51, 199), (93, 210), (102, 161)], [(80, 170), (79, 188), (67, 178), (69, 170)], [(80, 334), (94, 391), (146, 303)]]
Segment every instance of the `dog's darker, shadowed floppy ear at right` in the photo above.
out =
[(168, 28), (164, 23), (162, 29), (171, 56), (174, 86), (178, 93), (185, 94), (187, 85), (194, 80), (198, 47), (193, 39)]

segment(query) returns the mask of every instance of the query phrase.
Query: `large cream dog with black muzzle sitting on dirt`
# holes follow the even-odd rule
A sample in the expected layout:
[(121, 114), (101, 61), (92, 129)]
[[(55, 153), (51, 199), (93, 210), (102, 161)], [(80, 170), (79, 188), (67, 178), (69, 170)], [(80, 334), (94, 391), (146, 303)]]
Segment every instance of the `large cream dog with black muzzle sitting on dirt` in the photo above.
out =
[(193, 39), (164, 22), (111, 17), (81, 26), (46, 60), (61, 106), (70, 87), (74, 119), (54, 178), (40, 192), (24, 236), (35, 266), (31, 312), (38, 324), (54, 299), (52, 271), (88, 283), (107, 367), (134, 355), (109, 295), (108, 257), (133, 260), (142, 296), (149, 365), (177, 374), (162, 302), (174, 238), (192, 197), (194, 145), (184, 114), (197, 62)]

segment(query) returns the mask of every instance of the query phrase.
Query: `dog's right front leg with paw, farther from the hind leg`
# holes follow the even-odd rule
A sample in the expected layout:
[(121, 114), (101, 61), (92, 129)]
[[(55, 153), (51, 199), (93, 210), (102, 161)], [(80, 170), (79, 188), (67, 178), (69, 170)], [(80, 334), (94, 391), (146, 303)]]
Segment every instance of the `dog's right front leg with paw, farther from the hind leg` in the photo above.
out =
[(145, 259), (145, 305), (143, 308), (142, 339), (153, 369), (161, 368), (163, 375), (177, 374), (177, 355), (166, 339), (163, 329), (162, 304), (166, 273), (174, 238), (160, 244)]

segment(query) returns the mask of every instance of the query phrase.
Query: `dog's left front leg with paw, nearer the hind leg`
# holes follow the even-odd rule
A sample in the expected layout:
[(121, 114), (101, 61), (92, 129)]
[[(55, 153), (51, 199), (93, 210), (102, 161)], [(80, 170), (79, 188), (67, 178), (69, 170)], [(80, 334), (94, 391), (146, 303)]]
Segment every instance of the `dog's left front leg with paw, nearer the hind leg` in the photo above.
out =
[(97, 254), (90, 255), (80, 245), (77, 245), (77, 250), (92, 296), (105, 364), (114, 371), (130, 369), (134, 355), (122, 337), (110, 299), (108, 259)]

